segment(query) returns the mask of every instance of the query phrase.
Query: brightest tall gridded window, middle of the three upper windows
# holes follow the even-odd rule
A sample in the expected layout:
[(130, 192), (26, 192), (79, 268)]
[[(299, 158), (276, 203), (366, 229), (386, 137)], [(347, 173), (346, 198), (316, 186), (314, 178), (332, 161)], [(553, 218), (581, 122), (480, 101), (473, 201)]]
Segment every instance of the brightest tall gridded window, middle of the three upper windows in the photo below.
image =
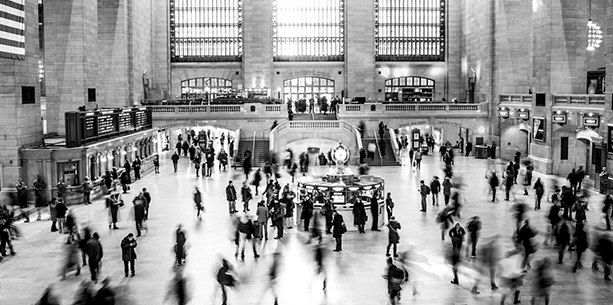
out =
[(273, 0), (275, 61), (342, 61), (345, 0)]

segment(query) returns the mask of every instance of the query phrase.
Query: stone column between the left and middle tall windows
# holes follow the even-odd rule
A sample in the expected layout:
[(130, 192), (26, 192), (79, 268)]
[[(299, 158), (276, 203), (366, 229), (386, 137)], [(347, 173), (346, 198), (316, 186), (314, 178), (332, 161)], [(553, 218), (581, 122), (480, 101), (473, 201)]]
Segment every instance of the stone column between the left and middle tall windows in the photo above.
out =
[[(243, 84), (272, 88), (272, 0), (243, 1)], [(271, 95), (276, 95), (271, 92)], [(187, 138), (186, 138), (187, 139)]]

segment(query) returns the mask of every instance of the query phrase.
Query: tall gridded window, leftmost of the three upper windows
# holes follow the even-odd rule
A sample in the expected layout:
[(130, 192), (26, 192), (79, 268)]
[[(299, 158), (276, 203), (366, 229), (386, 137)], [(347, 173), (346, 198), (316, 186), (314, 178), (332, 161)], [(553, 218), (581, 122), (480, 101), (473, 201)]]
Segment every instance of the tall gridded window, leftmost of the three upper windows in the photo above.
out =
[(172, 61), (240, 61), (242, 0), (170, 0)]

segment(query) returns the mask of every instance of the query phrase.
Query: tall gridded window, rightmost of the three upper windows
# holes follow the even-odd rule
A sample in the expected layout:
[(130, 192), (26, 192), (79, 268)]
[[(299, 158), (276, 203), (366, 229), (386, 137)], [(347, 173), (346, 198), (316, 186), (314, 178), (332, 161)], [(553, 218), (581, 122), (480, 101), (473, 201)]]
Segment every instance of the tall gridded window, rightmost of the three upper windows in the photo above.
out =
[(375, 0), (375, 58), (444, 61), (446, 0)]

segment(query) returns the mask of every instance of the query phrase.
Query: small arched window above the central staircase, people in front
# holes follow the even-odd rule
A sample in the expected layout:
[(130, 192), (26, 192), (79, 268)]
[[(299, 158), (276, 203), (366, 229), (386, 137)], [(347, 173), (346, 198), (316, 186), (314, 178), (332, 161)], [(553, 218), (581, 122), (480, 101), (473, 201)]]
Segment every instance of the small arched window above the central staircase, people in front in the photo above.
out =
[(326, 97), (331, 101), (334, 97), (334, 80), (321, 77), (296, 77), (283, 81), (283, 101), (288, 99), (297, 101), (300, 99), (317, 100)]

